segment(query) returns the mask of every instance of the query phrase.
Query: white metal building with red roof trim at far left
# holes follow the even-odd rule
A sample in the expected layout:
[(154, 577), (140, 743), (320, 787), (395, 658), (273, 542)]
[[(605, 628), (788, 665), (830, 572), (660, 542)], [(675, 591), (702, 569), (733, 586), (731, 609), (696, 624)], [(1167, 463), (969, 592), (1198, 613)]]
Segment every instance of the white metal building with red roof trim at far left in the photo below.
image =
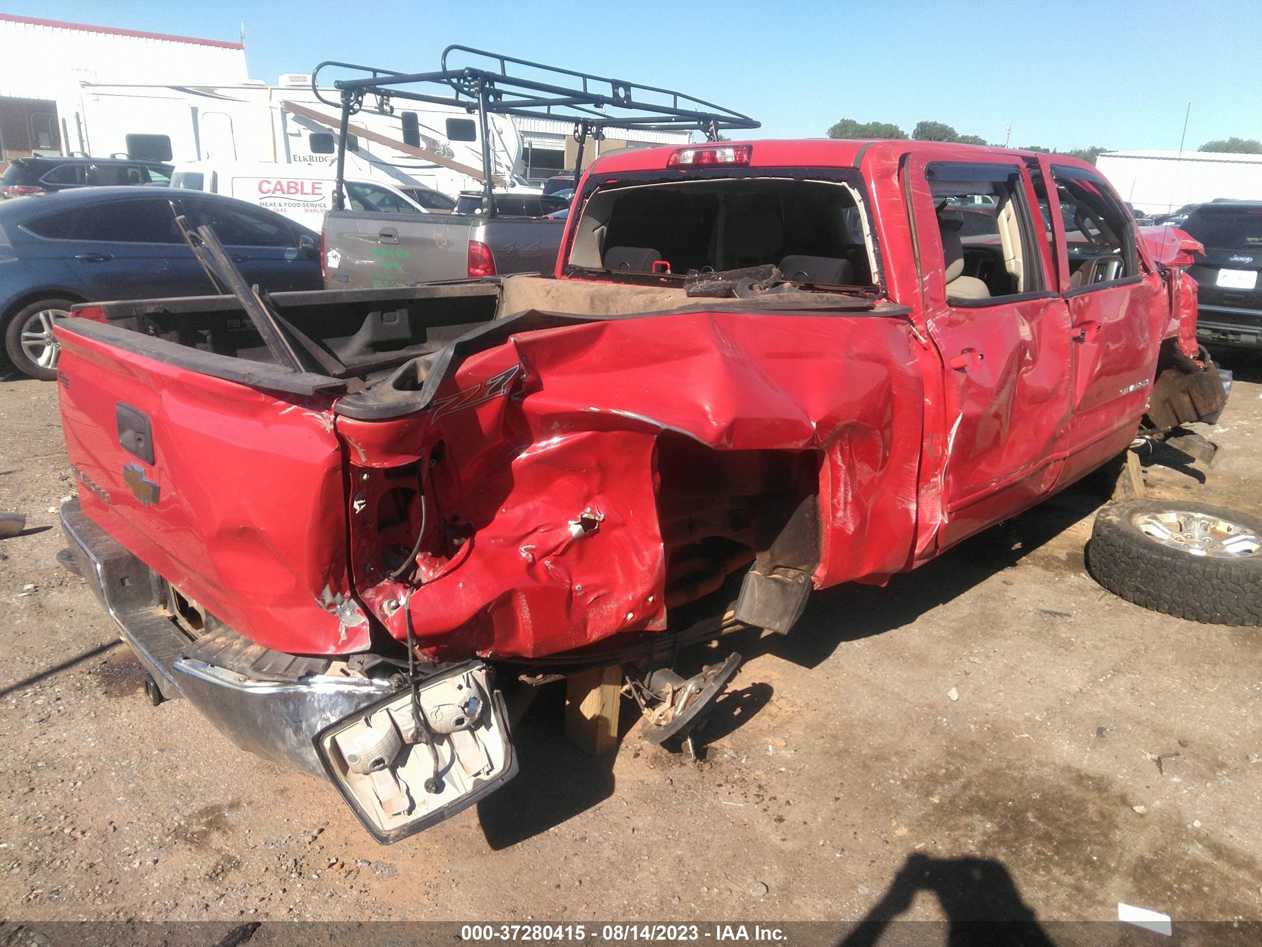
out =
[(81, 82), (240, 85), (245, 45), (0, 13), (0, 168), (29, 154), (61, 154), (57, 101)]

